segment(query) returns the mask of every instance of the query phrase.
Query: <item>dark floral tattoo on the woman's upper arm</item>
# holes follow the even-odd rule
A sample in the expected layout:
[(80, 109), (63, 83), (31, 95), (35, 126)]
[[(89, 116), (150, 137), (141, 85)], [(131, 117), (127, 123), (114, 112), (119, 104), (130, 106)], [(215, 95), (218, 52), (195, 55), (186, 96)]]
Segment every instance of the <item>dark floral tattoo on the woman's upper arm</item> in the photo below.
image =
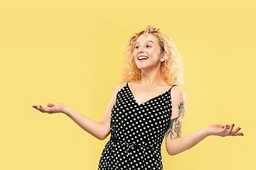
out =
[(185, 97), (184, 101), (181, 101), (178, 105), (178, 117), (171, 119), (168, 130), (167, 130), (167, 137), (170, 135), (171, 140), (174, 136), (174, 132), (178, 135), (178, 137), (181, 137), (181, 121), (178, 121), (178, 118), (183, 118), (185, 113), (185, 105), (186, 105), (186, 96), (183, 93), (183, 96)]

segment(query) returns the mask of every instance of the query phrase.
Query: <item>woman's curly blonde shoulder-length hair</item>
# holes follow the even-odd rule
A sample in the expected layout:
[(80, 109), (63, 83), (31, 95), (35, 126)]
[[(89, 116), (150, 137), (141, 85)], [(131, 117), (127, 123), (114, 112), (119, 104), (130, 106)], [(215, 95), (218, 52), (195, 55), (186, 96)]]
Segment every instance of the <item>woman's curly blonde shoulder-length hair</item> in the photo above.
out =
[(182, 58), (178, 54), (175, 43), (167, 35), (161, 33), (160, 28), (150, 25), (145, 30), (139, 33), (133, 33), (129, 38), (129, 41), (124, 45), (124, 57), (123, 57), (123, 73), (122, 81), (138, 81), (142, 79), (141, 70), (138, 69), (135, 64), (133, 52), (134, 45), (139, 38), (139, 35), (153, 34), (159, 39), (159, 45), (161, 52), (166, 52), (168, 57), (161, 63), (161, 77), (164, 79), (166, 84), (182, 86), (183, 80), (183, 63)]

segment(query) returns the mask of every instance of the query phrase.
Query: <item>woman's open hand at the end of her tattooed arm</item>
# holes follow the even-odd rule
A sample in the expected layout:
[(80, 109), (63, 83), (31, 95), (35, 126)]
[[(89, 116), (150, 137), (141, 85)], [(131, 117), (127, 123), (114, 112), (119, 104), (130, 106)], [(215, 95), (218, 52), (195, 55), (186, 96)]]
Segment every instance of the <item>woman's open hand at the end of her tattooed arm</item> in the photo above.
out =
[(231, 125), (209, 125), (206, 127), (206, 132), (208, 135), (216, 135), (216, 136), (243, 136), (242, 132), (238, 132), (241, 128), (238, 127), (235, 130), (233, 130), (235, 124)]

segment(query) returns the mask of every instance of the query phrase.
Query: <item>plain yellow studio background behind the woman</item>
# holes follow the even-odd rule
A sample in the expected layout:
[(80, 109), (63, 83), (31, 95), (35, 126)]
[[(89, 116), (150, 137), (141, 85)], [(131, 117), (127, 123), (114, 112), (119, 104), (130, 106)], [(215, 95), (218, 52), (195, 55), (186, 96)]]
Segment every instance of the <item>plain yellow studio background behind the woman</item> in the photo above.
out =
[(100, 121), (121, 80), (122, 45), (149, 24), (184, 60), (183, 136), (235, 123), (244, 137), (207, 137), (164, 169), (255, 168), (254, 1), (1, 1), (0, 169), (97, 169), (104, 141), (63, 114), (65, 103)]

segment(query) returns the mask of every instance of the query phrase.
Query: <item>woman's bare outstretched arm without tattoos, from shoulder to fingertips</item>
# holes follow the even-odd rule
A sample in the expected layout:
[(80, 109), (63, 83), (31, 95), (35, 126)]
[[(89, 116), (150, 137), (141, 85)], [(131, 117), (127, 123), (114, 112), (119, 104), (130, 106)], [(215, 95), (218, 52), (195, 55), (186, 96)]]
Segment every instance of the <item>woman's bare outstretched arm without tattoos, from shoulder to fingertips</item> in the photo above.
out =
[(94, 137), (97, 137), (99, 140), (104, 140), (110, 134), (110, 118), (111, 110), (116, 102), (117, 92), (122, 89), (125, 85), (125, 82), (121, 82), (114, 87), (112, 95), (110, 98), (110, 103), (107, 105), (107, 109), (102, 116), (100, 123), (86, 118), (84, 115), (74, 111), (72, 108), (65, 106), (62, 103), (49, 103), (48, 108), (43, 108), (43, 106), (33, 105), (33, 108), (36, 108), (38, 111), (43, 113), (65, 113), (68, 115), (76, 124), (78, 124), (83, 130), (89, 132)]

